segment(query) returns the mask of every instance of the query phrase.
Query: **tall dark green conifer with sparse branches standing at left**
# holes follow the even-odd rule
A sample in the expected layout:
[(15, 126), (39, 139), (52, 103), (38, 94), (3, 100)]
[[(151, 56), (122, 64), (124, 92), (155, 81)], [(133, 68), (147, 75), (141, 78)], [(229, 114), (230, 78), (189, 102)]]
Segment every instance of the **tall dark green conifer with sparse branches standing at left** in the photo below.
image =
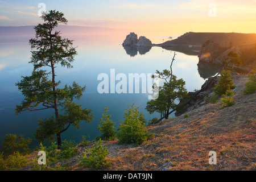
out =
[[(81, 109), (73, 100), (80, 100), (85, 86), (80, 86), (75, 81), (72, 86), (65, 85), (58, 88), (60, 81), (56, 81), (55, 68), (72, 68), (71, 63), (77, 55), (73, 41), (63, 39), (60, 31), (55, 28), (60, 24), (67, 24), (64, 14), (59, 11), (49, 11), (42, 16), (43, 24), (38, 24), (35, 29), (35, 39), (30, 39), (31, 63), (34, 70), (31, 76), (22, 76), (16, 83), (18, 89), (25, 97), (20, 105), (16, 106), (16, 114), (22, 111), (36, 111), (52, 109), (54, 115), (46, 119), (39, 119), (39, 128), (35, 138), (39, 142), (52, 142), (57, 136), (58, 148), (61, 146), (60, 134), (70, 126), (80, 129), (80, 122), (92, 122), (92, 110)], [(50, 67), (49, 71), (43, 70)], [(36, 108), (36, 107), (39, 107)], [(62, 111), (60, 114), (60, 110)]]

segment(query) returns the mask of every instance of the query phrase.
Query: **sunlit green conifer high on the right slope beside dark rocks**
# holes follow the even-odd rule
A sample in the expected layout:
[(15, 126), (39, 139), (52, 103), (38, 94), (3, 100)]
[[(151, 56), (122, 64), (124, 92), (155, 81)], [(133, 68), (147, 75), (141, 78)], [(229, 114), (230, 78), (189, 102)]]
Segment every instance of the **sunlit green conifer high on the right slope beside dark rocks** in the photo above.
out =
[(231, 74), (229, 70), (222, 69), (220, 80), (217, 82), (214, 88), (214, 93), (218, 96), (222, 96), (226, 93), (226, 90), (231, 89), (233, 90), (236, 88), (234, 86), (232, 78), (230, 78)]

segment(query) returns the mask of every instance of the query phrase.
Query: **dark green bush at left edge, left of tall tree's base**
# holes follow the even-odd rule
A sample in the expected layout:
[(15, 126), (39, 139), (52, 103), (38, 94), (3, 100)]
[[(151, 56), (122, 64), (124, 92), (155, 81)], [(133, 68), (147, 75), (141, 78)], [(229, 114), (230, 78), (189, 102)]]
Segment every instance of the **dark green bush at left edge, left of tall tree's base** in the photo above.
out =
[(12, 155), (15, 152), (19, 152), (19, 154), (28, 154), (31, 152), (29, 147), (31, 142), (32, 139), (24, 139), (22, 135), (17, 137), (17, 135), (14, 134), (6, 134), (2, 143), (3, 153), (6, 156)]

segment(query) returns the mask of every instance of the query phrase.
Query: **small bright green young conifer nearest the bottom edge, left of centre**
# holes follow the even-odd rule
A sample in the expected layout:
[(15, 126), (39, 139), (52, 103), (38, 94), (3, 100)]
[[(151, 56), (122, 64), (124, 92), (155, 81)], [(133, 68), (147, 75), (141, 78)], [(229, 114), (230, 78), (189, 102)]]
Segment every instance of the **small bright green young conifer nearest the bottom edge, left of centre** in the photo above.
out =
[(101, 168), (105, 166), (109, 166), (110, 163), (106, 159), (106, 156), (109, 155), (108, 148), (102, 146), (102, 140), (98, 140), (95, 142), (94, 147), (86, 150), (81, 156), (80, 164), (83, 167), (93, 167), (93, 168)]

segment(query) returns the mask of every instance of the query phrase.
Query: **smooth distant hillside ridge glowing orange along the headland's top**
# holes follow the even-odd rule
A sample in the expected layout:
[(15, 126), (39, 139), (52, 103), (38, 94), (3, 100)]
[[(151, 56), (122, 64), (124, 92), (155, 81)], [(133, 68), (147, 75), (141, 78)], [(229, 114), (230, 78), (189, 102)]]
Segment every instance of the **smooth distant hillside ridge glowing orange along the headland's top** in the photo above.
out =
[(159, 44), (159, 46), (202, 46), (207, 40), (218, 43), (221, 46), (236, 46), (245, 43), (256, 43), (256, 34), (187, 32), (179, 38)]

